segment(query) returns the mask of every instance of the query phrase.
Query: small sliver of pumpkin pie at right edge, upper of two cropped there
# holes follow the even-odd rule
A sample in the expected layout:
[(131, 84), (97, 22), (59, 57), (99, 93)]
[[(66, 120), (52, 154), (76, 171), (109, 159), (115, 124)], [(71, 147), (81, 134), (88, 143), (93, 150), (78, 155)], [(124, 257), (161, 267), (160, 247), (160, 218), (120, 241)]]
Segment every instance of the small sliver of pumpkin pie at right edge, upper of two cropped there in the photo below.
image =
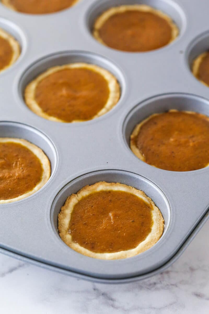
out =
[(199, 55), (193, 62), (192, 73), (201, 81), (201, 83), (209, 86), (209, 52), (206, 51)]

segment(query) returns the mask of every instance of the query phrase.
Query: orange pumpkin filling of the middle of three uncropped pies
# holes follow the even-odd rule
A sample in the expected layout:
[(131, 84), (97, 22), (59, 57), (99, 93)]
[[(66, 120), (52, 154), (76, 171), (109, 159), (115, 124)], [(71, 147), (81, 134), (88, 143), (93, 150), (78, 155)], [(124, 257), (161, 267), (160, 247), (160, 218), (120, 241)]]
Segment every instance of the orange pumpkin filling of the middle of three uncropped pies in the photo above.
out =
[(39, 107), (65, 122), (92, 119), (108, 98), (107, 80), (87, 68), (68, 68), (52, 73), (35, 89)]

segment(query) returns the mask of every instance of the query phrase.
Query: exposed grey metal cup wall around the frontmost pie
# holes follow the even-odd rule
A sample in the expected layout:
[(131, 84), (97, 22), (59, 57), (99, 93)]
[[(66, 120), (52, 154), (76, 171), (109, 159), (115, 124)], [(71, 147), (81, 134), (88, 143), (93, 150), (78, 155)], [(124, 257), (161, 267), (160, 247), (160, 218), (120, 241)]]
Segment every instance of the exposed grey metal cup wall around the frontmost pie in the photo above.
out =
[[(67, 185), (65, 185), (65, 187), (60, 190), (60, 192), (54, 199), (50, 214), (52, 228), (59, 239), (60, 236), (58, 233), (58, 214), (68, 196), (70, 196), (71, 194), (76, 194), (82, 187), (85, 187), (86, 185), (92, 185), (100, 181), (126, 184), (128, 186), (135, 187), (136, 189), (143, 191), (148, 197), (150, 197), (161, 211), (165, 220), (164, 232), (162, 237), (159, 239), (159, 241), (161, 241), (169, 228), (171, 220), (170, 205), (165, 194), (153, 182), (149, 181), (143, 176), (137, 175), (132, 172), (120, 170), (102, 170), (87, 173), (69, 182)], [(61, 239), (60, 241), (65, 245), (65, 243)], [(69, 250), (71, 249), (69, 248)]]

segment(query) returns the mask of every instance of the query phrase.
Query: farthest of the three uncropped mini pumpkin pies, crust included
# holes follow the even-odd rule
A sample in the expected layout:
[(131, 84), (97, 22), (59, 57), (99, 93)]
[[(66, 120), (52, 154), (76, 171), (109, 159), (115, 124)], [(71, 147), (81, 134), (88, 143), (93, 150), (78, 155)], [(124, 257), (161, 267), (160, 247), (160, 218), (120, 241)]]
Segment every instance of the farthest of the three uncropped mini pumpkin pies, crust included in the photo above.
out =
[(178, 27), (169, 16), (144, 4), (109, 8), (93, 26), (93, 35), (99, 42), (129, 52), (161, 48), (178, 34)]

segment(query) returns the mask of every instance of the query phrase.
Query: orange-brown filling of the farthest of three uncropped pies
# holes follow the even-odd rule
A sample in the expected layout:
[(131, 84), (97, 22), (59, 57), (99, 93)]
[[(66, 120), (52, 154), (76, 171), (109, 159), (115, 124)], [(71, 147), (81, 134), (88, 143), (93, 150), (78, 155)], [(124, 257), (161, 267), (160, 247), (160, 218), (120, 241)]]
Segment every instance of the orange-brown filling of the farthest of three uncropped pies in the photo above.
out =
[(169, 22), (153, 12), (126, 10), (111, 15), (98, 29), (107, 46), (122, 51), (150, 51), (172, 40)]

